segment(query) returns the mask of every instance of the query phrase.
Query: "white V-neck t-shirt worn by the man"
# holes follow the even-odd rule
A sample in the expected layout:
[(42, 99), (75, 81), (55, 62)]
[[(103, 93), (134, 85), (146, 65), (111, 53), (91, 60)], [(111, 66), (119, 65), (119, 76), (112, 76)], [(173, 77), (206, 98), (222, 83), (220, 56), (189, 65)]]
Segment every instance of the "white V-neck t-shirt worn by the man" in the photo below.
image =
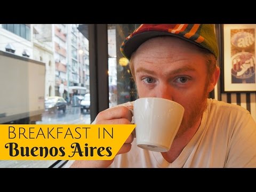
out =
[(109, 167), (256, 167), (256, 123), (243, 107), (208, 99), (201, 125), (174, 162), (137, 147), (134, 138), (131, 150)]

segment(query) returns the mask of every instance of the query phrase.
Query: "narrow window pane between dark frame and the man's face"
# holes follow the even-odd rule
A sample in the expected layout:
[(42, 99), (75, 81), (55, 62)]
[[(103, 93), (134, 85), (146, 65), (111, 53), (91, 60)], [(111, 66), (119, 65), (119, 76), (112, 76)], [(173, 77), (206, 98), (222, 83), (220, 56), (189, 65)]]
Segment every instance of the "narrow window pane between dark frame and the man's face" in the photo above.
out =
[(124, 38), (138, 26), (138, 24), (108, 25), (109, 107), (137, 98), (129, 60), (124, 58), (119, 47)]

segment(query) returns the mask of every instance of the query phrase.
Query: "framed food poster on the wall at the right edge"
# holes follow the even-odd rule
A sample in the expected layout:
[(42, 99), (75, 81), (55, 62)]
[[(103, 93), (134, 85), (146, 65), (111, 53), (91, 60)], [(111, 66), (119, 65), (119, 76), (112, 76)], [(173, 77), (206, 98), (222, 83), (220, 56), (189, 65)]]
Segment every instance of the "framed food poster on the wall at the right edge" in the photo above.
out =
[(256, 25), (223, 24), (222, 30), (222, 92), (256, 92)]

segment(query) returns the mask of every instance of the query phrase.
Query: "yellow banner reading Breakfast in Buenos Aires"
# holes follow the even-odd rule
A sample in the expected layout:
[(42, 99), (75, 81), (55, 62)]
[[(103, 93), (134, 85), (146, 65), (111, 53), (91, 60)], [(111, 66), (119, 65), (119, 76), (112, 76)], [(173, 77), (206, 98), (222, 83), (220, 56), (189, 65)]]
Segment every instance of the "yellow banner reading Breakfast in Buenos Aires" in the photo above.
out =
[(130, 125), (0, 125), (0, 160), (110, 160)]

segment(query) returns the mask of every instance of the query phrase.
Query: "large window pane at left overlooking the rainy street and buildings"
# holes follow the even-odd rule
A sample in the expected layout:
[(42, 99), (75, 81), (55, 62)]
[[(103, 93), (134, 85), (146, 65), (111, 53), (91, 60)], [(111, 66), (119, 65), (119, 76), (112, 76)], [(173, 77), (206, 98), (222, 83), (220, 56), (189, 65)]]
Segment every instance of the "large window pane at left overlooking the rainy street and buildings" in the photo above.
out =
[[(9, 94), (1, 95), (4, 102), (0, 101), (0, 124), (91, 123), (90, 109), (81, 111), (80, 105), (84, 95), (90, 93), (89, 39), (83, 35), (84, 31), (77, 29), (78, 26), (2, 24), (0, 60), (6, 62), (0, 65), (0, 71), (4, 71), (0, 80), (5, 82), (1, 84), (1, 91)], [(3, 35), (6, 30), (12, 32), (8, 33), (7, 37)], [(32, 39), (30, 31), (33, 33)], [(77, 43), (71, 44), (74, 33)], [(17, 35), (24, 39), (17, 38)], [(7, 44), (15, 48), (14, 55), (5, 51)], [(77, 50), (80, 49), (82, 51), (79, 54), (86, 59), (78, 60)], [(24, 50), (30, 53), (29, 61), (28, 58), (22, 57)], [(34, 74), (30, 76), (27, 73), (28, 66), (40, 66), (40, 69), (35, 68)], [(83, 69), (83, 73), (79, 69)], [(36, 82), (36, 86), (30, 87), (31, 83), (28, 82)], [(60, 86), (64, 87), (63, 92), (60, 91)], [(32, 93), (31, 89), (36, 89), (33, 95), (29, 95)], [(46, 98), (49, 96), (60, 96), (62, 102), (66, 100), (66, 109), (46, 110)], [(32, 103), (31, 98), (38, 102)], [(33, 113), (30, 113), (30, 110), (33, 110), (33, 113), (36, 111), (38, 115), (31, 115)], [(21, 117), (21, 114), (27, 115)], [(0, 161), (0, 167), (52, 167), (55, 163), (57, 161)]]

